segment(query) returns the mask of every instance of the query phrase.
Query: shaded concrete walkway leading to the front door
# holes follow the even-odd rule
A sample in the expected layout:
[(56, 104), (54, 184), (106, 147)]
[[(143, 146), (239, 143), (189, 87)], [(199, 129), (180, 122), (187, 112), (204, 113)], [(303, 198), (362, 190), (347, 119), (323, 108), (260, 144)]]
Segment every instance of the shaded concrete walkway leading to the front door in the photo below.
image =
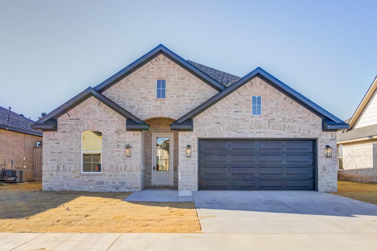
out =
[(178, 196), (178, 189), (173, 187), (148, 187), (133, 192), (124, 201), (181, 202), (193, 201), (193, 197)]

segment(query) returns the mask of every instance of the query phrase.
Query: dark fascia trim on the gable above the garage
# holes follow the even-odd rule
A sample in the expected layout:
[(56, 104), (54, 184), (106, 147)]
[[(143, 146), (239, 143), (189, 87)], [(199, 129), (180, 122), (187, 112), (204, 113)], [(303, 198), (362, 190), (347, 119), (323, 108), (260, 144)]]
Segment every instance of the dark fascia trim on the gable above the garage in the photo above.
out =
[(313, 101), (311, 101), (308, 98), (305, 98), (303, 95), (300, 93), (296, 92), (293, 90), (291, 87), (287, 86), (277, 78), (273, 77), (270, 73), (266, 72), (263, 70), (261, 67), (257, 67), (255, 70), (252, 72), (248, 73), (245, 75), (245, 77), (241, 78), (234, 84), (232, 84), (230, 87), (227, 89), (223, 90), (222, 92), (219, 92), (212, 98), (208, 99), (205, 101), (203, 104), (200, 106), (196, 107), (193, 109), (191, 112), (187, 113), (186, 115), (182, 116), (181, 118), (177, 119), (174, 123), (179, 124), (185, 121), (188, 118), (195, 118), (195, 116), (198, 116), (200, 113), (202, 113), (204, 110), (208, 109), (209, 107), (213, 106), (216, 104), (218, 101), (221, 99), (225, 98), (235, 90), (237, 90), (239, 87), (243, 86), (244, 84), (248, 83), (250, 80), (252, 80), (255, 77), (262, 78), (265, 80), (267, 83), (271, 84), (273, 87), (276, 89), (280, 90), (281, 92), (285, 93), (287, 96), (290, 98), (296, 100), (299, 104), (304, 106), (305, 108), (311, 110), (314, 112), (316, 115), (320, 116), (321, 118), (328, 118), (331, 121), (334, 121), (339, 124), (344, 124), (341, 119), (337, 118), (336, 116), (332, 115), (331, 113), (327, 112), (325, 109), (322, 107), (318, 106), (315, 104)]

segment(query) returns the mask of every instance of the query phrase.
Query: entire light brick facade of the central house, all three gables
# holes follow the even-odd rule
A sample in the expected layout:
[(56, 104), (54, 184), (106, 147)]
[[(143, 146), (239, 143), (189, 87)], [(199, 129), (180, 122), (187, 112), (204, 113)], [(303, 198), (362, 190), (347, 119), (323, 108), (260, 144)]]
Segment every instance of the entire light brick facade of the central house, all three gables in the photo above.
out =
[[(166, 99), (156, 99), (157, 78), (166, 78)], [(152, 133), (170, 133), (169, 124), (218, 93), (168, 58), (159, 55), (103, 92), (150, 124), (144, 132), (126, 132), (126, 119), (89, 98), (58, 119), (57, 132), (44, 132), (43, 189), (131, 191), (151, 184)], [(251, 115), (251, 96), (262, 95), (262, 116)], [(81, 174), (81, 132), (103, 133), (102, 174)], [(325, 145), (336, 156), (336, 132), (322, 132), (322, 120), (259, 78), (240, 87), (194, 118), (193, 132), (174, 132), (174, 170), (178, 189), (198, 189), (198, 138), (317, 139), (319, 191), (337, 190), (337, 160), (325, 158)], [(178, 142), (177, 142), (178, 141)], [(125, 157), (125, 145), (131, 157)], [(192, 157), (186, 157), (186, 145)], [(178, 167), (176, 167), (178, 165)], [(177, 185), (177, 171), (174, 184)]]

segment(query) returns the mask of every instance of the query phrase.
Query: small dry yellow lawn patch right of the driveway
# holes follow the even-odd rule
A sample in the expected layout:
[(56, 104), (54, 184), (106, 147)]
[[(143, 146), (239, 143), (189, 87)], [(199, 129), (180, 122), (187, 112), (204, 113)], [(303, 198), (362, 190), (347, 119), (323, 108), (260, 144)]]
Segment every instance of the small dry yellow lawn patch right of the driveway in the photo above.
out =
[(377, 204), (376, 183), (338, 181), (338, 192), (332, 193), (351, 199)]

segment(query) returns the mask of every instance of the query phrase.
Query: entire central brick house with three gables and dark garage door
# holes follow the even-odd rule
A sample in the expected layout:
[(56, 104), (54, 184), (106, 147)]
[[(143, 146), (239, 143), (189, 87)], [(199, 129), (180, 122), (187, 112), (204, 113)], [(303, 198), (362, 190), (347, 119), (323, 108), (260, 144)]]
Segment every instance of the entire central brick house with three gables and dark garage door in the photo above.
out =
[(32, 128), (44, 132), (43, 190), (190, 194), (336, 191), (348, 124), (259, 67), (240, 78), (159, 45)]

